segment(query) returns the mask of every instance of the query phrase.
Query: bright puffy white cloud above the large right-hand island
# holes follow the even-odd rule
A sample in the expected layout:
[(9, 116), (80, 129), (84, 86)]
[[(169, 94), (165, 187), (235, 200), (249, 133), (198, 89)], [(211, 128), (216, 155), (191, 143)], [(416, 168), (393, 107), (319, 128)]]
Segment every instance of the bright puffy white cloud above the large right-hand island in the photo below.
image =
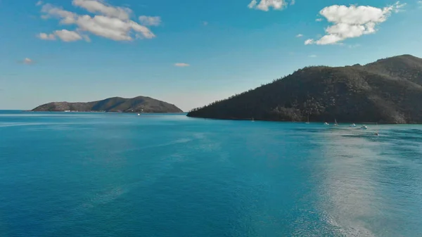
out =
[(326, 35), (318, 40), (307, 39), (305, 44), (338, 44), (348, 38), (361, 37), (376, 32), (376, 25), (385, 22), (392, 12), (398, 12), (404, 4), (376, 8), (373, 6), (328, 6), (319, 14), (333, 25), (326, 28)]

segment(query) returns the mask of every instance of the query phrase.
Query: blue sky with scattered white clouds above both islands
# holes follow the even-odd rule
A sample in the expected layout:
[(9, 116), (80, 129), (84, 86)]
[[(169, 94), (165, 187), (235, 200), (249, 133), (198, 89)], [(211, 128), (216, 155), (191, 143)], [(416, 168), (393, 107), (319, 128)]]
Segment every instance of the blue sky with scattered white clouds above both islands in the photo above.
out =
[(0, 109), (151, 96), (184, 111), (308, 65), (422, 57), (422, 1), (0, 0)]

